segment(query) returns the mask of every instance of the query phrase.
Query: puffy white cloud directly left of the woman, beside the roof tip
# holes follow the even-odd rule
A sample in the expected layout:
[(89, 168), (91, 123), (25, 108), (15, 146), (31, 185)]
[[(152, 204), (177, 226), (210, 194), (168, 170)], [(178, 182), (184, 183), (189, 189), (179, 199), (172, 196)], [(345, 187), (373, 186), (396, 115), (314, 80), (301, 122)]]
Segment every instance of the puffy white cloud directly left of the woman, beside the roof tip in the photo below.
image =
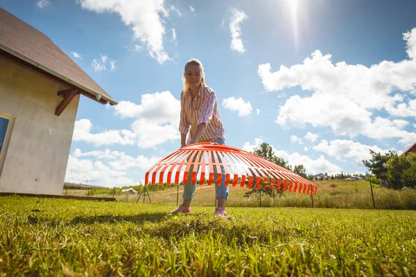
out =
[(132, 132), (137, 135), (137, 145), (141, 148), (155, 148), (180, 138), (180, 100), (170, 91), (142, 94), (141, 105), (121, 101), (114, 110), (121, 118), (137, 118), (132, 123)]

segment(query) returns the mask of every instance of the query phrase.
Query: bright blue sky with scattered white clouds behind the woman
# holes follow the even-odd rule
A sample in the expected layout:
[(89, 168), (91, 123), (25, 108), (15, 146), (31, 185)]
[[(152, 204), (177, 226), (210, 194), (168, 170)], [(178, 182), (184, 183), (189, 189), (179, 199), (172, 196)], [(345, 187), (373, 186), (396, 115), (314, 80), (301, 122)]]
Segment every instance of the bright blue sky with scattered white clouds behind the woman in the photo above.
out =
[(81, 98), (66, 181), (124, 186), (180, 147), (183, 66), (202, 61), (227, 145), (307, 172), (366, 172), (416, 142), (415, 1), (1, 0), (119, 105)]

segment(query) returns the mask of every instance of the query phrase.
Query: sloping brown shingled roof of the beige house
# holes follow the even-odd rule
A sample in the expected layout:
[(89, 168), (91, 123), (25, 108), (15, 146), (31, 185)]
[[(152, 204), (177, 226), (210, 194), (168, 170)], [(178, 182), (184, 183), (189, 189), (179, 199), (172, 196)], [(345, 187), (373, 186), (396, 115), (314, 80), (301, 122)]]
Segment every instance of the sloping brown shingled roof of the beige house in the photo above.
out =
[(117, 104), (49, 37), (3, 8), (0, 8), (0, 55), (62, 81), (98, 102)]

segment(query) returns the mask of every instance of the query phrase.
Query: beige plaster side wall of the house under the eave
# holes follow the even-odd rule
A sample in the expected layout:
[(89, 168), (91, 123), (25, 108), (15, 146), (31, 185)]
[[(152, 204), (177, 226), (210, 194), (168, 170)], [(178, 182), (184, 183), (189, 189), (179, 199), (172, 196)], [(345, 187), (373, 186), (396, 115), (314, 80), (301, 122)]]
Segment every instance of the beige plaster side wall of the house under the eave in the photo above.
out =
[(15, 117), (0, 191), (62, 194), (79, 95), (60, 116), (64, 87), (0, 57), (0, 113)]

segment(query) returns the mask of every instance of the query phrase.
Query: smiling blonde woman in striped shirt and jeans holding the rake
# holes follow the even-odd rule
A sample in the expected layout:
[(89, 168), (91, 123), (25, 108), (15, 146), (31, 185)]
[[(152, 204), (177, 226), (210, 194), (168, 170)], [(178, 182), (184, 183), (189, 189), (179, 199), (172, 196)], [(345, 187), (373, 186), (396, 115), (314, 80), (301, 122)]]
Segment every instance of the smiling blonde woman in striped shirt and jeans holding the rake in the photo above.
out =
[[(204, 67), (199, 60), (191, 59), (184, 68), (184, 90), (180, 96), (180, 145), (202, 142), (225, 143), (225, 131), (218, 114), (215, 92), (205, 84)], [(189, 130), (189, 127), (191, 129)], [(187, 133), (189, 137), (187, 140)], [(218, 159), (220, 159), (218, 157)], [(192, 168), (193, 169), (193, 168)], [(228, 186), (225, 186), (225, 169), (221, 167), (220, 186), (215, 186), (217, 208), (214, 215), (226, 217), (225, 204), (228, 198)], [(216, 180), (216, 176), (214, 176)], [(196, 184), (191, 184), (191, 175), (184, 185), (182, 204), (172, 213), (191, 212), (191, 201)]]

